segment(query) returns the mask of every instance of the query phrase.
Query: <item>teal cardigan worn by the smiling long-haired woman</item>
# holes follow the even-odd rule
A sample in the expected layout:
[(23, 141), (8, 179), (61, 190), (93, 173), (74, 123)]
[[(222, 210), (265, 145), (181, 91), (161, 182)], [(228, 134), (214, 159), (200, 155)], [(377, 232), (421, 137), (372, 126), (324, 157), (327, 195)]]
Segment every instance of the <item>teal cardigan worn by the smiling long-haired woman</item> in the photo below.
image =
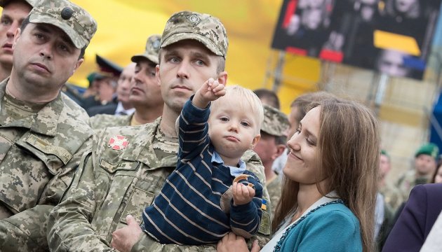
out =
[(279, 251), (362, 251), (358, 218), (342, 202), (319, 206), (286, 232)]

